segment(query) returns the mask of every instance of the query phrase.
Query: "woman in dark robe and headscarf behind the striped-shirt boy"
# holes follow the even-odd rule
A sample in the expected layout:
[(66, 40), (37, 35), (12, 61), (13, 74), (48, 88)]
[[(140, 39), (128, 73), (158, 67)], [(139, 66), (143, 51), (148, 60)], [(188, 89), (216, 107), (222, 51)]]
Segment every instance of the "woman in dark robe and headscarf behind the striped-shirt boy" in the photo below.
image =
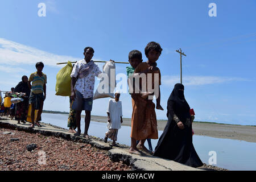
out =
[(26, 93), (23, 97), (24, 101), (16, 104), (15, 119), (18, 120), (18, 124), (21, 122), (26, 123), (27, 112), (28, 112), (28, 97), (30, 96), (30, 88), (27, 84), (28, 78), (26, 75), (22, 77), (22, 81), (15, 87), (14, 92)]

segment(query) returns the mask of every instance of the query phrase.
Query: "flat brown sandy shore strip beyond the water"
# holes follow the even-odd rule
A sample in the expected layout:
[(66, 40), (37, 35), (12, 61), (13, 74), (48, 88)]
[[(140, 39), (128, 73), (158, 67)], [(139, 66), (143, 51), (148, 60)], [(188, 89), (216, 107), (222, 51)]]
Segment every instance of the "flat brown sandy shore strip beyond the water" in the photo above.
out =
[[(106, 122), (107, 117), (92, 115), (92, 121)], [(167, 121), (158, 121), (158, 130), (164, 130)], [(124, 126), (131, 126), (131, 119), (123, 118)], [(217, 123), (194, 122), (195, 135), (203, 135), (214, 138), (227, 138), (256, 142), (256, 126), (224, 125)]]

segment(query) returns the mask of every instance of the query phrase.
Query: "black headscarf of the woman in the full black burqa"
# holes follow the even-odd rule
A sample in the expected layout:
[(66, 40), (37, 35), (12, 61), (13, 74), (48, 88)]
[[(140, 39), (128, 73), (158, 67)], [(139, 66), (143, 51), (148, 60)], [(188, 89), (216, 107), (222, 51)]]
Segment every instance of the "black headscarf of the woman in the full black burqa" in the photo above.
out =
[(172, 90), (172, 93), (168, 99), (168, 103), (170, 101), (175, 102), (174, 112), (177, 115), (177, 117), (181, 118), (190, 118), (189, 110), (190, 107), (188, 105), (188, 102), (185, 100), (184, 97), (184, 85), (182, 84), (175, 84), (174, 90)]

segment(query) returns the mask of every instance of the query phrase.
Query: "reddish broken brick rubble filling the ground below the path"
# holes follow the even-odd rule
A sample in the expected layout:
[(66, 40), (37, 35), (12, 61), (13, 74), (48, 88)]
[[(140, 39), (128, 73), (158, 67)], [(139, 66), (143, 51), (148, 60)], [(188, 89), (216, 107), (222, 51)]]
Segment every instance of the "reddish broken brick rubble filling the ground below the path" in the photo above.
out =
[[(13, 131), (1, 129), (3, 131)], [(0, 171), (130, 171), (122, 162), (113, 162), (108, 151), (92, 147), (88, 143), (73, 142), (54, 136), (19, 131), (15, 133), (19, 142), (10, 143), (11, 136), (1, 137)], [(24, 148), (37, 144), (33, 152)], [(39, 163), (45, 162), (45, 163)]]

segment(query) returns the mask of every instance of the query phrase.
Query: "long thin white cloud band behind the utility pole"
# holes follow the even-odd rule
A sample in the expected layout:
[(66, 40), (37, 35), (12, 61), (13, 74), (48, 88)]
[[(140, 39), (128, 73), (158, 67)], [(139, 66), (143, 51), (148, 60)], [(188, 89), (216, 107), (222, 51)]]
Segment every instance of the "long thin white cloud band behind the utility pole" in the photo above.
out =
[[(237, 77), (217, 77), (217, 76), (184, 76), (182, 82), (185, 85), (208, 85), (221, 84), (232, 81), (249, 81), (245, 78)], [(173, 86), (180, 82), (180, 76), (162, 76), (162, 83), (166, 86)]]

